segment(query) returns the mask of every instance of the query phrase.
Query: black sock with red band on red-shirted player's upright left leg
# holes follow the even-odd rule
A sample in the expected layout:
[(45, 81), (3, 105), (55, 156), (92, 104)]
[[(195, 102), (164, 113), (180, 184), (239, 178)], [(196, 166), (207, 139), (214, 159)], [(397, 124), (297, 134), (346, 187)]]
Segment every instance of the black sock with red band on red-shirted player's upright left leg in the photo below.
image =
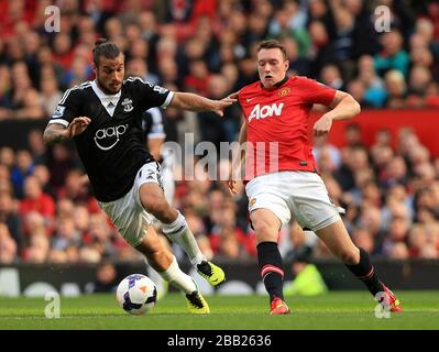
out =
[(257, 262), (262, 280), (270, 295), (270, 300), (274, 297), (284, 299), (282, 292), (284, 284), (284, 263), (277, 243), (261, 242), (257, 244)]

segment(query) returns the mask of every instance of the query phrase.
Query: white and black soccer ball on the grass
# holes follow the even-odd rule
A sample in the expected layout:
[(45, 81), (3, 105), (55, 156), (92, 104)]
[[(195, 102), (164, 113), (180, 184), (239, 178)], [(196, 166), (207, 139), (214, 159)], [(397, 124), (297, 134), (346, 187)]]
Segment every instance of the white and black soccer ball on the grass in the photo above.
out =
[(140, 316), (154, 307), (157, 300), (157, 287), (147, 276), (133, 274), (120, 282), (116, 297), (124, 311)]

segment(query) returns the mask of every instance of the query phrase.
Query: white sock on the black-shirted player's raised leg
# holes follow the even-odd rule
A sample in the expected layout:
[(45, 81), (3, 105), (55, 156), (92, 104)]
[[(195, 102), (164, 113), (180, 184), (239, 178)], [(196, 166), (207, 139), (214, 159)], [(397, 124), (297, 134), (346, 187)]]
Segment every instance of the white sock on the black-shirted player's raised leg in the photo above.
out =
[(177, 210), (178, 216), (172, 223), (162, 223), (163, 233), (173, 241), (177, 243), (183, 251), (187, 254), (190, 263), (196, 266), (202, 261), (206, 261), (206, 256), (202, 255), (198, 248), (197, 241), (194, 238), (193, 232), (187, 226), (185, 217)]

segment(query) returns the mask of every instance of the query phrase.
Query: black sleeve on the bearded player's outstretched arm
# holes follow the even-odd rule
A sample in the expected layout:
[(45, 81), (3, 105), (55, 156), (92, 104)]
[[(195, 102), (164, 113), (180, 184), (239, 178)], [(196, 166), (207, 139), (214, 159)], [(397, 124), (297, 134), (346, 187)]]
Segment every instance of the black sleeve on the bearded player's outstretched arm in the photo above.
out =
[(154, 107), (166, 109), (173, 99), (174, 92), (169, 89), (157, 85), (154, 86), (139, 77), (130, 77), (128, 80), (132, 81), (133, 88), (139, 95), (142, 110), (147, 110)]

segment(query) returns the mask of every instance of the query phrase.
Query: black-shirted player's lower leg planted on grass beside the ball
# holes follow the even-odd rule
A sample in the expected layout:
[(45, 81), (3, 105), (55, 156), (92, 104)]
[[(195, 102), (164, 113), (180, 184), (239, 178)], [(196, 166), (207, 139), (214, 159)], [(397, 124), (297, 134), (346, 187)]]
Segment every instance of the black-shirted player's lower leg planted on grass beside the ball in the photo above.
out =
[(195, 280), (182, 272), (175, 256), (163, 245), (153, 227), (147, 228), (146, 235), (142, 238), (135, 249), (145, 255), (149, 264), (163, 279), (185, 294), (190, 312), (209, 312), (209, 306), (198, 290)]

